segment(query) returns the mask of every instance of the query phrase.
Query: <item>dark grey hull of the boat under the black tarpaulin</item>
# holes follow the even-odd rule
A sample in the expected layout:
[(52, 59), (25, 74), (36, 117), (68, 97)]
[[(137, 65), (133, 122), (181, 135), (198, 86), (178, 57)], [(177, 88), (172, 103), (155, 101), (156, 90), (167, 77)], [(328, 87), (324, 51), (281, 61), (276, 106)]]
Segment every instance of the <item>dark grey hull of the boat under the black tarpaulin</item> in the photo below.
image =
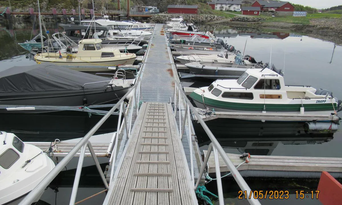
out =
[[(83, 106), (112, 104), (124, 96), (129, 87), (97, 88), (88, 90), (71, 91), (44, 91), (22, 92), (14, 94), (2, 94), (1, 105), (25, 105), (25, 106)], [(85, 100), (83, 100), (85, 98)], [(56, 110), (6, 110), (0, 109), (0, 113), (40, 113)]]

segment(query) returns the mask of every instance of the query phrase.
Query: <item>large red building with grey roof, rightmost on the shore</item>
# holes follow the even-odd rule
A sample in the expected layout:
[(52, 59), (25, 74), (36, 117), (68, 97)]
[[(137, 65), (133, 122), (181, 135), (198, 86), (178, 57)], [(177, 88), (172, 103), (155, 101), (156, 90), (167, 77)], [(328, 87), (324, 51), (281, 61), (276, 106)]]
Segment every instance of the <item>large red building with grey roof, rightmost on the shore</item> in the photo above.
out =
[(261, 11), (281, 11), (293, 12), (294, 6), (287, 1), (264, 1), (257, 0), (252, 4), (253, 7), (259, 7)]

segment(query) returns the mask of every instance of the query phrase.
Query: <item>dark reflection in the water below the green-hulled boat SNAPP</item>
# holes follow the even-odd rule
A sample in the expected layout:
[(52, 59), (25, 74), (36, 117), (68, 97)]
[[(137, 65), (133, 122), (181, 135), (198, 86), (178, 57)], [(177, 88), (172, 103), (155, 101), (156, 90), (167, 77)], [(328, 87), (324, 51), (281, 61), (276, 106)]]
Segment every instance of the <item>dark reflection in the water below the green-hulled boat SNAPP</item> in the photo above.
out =
[[(202, 151), (211, 142), (200, 124), (193, 123)], [(304, 129), (304, 123), (246, 121), (215, 119), (207, 121), (213, 135), (227, 153), (271, 155), (277, 146), (321, 144), (333, 139), (333, 133), (313, 133)], [(236, 151), (234, 151), (236, 149)], [(285, 153), (288, 155), (291, 153)]]

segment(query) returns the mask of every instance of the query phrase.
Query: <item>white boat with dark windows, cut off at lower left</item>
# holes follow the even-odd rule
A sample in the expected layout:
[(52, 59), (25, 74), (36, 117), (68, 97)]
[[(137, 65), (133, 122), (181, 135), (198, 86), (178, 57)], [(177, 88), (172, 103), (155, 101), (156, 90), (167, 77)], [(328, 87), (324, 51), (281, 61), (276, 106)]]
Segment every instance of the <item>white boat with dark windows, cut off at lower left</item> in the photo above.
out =
[(41, 149), (22, 142), (13, 133), (0, 131), (0, 141), (0, 204), (18, 204), (55, 164)]

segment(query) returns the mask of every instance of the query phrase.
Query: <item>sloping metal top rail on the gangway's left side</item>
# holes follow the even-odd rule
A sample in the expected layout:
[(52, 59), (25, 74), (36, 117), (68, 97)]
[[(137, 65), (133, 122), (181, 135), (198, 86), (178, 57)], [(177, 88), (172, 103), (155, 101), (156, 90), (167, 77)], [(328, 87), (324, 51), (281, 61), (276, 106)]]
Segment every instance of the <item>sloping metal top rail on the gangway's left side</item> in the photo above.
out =
[(139, 78), (135, 84), (129, 88), (128, 92), (117, 102), (117, 104), (111, 108), (103, 118), (96, 123), (96, 125), (75, 145), (73, 149), (63, 158), (63, 160), (58, 163), (51, 172), (44, 177), (44, 179), (19, 203), (19, 205), (30, 205), (34, 200), (44, 191), (44, 189), (50, 184), (50, 182), (64, 169), (66, 164), (74, 157), (78, 150), (88, 142), (89, 138), (97, 131), (98, 128), (109, 118), (111, 113), (113, 113), (120, 105), (121, 102), (133, 91), (138, 82), (141, 80)]

